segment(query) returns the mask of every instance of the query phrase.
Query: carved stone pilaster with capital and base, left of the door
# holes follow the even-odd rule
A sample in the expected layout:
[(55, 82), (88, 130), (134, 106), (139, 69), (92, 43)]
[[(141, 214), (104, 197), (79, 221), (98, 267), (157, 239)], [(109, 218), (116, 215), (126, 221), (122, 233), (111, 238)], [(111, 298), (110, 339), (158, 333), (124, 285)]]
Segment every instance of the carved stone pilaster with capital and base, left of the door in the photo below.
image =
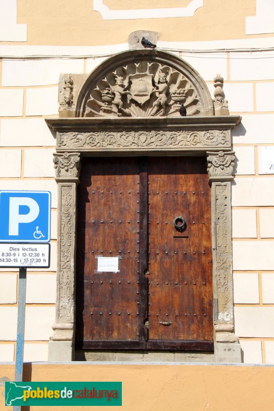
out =
[(75, 330), (76, 204), (80, 154), (54, 154), (58, 182), (57, 307), (49, 360), (71, 361)]

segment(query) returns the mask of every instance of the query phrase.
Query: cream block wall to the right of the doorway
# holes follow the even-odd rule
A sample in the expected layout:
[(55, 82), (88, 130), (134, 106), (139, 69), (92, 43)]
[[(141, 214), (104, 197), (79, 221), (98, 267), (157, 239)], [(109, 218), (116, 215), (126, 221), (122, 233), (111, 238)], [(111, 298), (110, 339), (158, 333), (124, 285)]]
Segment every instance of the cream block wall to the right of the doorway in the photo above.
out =
[(231, 88), (226, 94), (230, 112), (237, 108), (243, 116), (242, 125), (232, 131), (238, 159), (232, 185), (235, 333), (244, 362), (258, 364), (273, 363), (274, 347), (274, 82), (268, 57), (268, 52), (261, 59), (231, 53), (228, 81), (233, 92), (238, 82), (241, 88), (237, 97), (230, 99)]

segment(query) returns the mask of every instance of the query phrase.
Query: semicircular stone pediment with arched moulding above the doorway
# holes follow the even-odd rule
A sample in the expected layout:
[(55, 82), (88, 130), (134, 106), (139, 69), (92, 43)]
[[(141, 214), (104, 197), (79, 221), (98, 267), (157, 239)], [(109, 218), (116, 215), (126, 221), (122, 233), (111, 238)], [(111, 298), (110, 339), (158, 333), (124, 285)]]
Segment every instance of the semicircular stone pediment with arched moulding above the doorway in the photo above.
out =
[(182, 104), (187, 116), (214, 114), (207, 85), (193, 67), (165, 51), (135, 49), (90, 73), (76, 117), (180, 117)]

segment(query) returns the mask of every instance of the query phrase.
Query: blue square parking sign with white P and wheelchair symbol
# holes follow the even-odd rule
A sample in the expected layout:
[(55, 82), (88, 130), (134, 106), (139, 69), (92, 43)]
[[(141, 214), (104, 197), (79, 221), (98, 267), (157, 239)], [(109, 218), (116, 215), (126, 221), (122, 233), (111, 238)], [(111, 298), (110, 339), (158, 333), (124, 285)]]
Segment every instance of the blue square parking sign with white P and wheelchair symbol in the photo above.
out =
[(0, 241), (49, 242), (49, 191), (0, 191)]

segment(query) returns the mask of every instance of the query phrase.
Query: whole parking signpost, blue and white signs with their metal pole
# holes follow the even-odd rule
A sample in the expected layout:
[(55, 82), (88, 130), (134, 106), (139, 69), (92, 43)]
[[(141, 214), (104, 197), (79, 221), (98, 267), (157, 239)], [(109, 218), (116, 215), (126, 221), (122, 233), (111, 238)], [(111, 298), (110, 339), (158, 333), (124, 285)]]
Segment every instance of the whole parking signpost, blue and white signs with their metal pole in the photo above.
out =
[(0, 268), (19, 268), (15, 383), (23, 381), (27, 268), (50, 266), (50, 210), (49, 191), (0, 190)]

